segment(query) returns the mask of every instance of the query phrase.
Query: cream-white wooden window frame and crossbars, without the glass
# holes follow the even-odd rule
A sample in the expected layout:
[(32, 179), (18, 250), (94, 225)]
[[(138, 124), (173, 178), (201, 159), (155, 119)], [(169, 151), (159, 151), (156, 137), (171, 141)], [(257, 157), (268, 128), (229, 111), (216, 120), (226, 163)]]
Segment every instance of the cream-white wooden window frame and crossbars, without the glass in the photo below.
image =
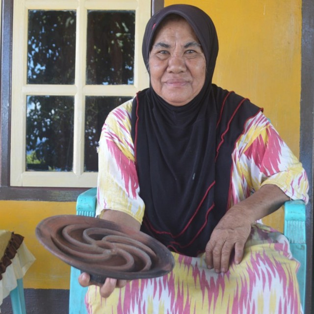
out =
[[(76, 70), (74, 85), (27, 84), (28, 10), (76, 10)], [(135, 53), (133, 85), (86, 85), (87, 10), (134, 10)], [(85, 96), (130, 96), (148, 87), (141, 45), (151, 16), (147, 0), (14, 0), (11, 97), (11, 186), (93, 187), (96, 172), (84, 172)], [(26, 171), (26, 97), (28, 95), (73, 96), (74, 157), (72, 172)]]

